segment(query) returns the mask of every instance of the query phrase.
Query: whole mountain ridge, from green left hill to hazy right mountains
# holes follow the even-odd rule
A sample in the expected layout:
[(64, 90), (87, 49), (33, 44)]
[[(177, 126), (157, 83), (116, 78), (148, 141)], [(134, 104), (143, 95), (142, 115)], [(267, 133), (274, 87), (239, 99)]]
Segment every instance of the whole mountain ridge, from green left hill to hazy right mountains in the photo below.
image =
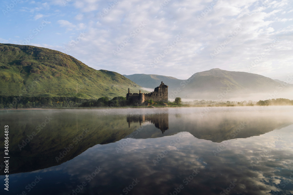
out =
[(60, 51), (0, 43), (1, 95), (125, 97), (128, 88), (144, 93), (147, 89), (143, 88), (154, 89), (161, 81), (169, 86), (171, 101), (175, 97), (222, 100), (251, 94), (258, 94), (255, 100), (259, 100), (268, 99), (268, 95), (288, 98), (281, 96), (283, 92), (293, 94), (293, 84), (253, 73), (213, 68), (195, 73), (187, 80), (155, 74), (121, 75), (95, 70)]

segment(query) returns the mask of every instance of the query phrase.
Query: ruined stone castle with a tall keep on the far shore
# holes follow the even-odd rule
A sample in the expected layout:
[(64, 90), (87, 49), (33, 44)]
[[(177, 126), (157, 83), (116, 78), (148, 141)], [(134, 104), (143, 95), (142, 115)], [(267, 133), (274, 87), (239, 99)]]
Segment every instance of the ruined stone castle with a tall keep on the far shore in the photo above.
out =
[(156, 87), (153, 92), (145, 94), (141, 93), (139, 90), (138, 93), (131, 94), (128, 88), (128, 93), (126, 94), (126, 100), (129, 100), (134, 103), (142, 104), (144, 101), (152, 99), (153, 101), (161, 101), (168, 103), (168, 86), (161, 82), (159, 87)]

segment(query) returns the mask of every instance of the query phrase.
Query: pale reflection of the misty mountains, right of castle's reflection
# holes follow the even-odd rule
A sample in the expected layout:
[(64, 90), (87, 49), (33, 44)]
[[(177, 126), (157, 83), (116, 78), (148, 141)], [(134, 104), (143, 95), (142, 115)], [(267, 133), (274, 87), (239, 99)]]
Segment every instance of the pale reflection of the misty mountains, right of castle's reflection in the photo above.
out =
[[(152, 120), (160, 120), (159, 115), (152, 115)], [(265, 134), (281, 126), (293, 124), (290, 117), (262, 113), (210, 113), (203, 118), (200, 115), (185, 115), (177, 118), (170, 116), (169, 129), (164, 136), (178, 132), (190, 132), (198, 139), (222, 142), (229, 139), (247, 138)], [(162, 137), (151, 127), (144, 127), (136, 139)]]

